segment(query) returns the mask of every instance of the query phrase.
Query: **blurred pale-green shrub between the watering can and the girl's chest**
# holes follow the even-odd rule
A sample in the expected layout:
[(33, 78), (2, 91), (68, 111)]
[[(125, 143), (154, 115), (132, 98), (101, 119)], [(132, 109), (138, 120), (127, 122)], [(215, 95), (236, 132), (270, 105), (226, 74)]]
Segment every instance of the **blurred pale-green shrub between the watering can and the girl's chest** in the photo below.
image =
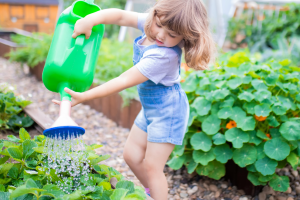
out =
[[(118, 42), (114, 39), (104, 38), (101, 43), (94, 82), (103, 84), (121, 75), (133, 66), (133, 48), (131, 43)], [(123, 105), (128, 105), (130, 99), (137, 99), (136, 87), (120, 92)]]

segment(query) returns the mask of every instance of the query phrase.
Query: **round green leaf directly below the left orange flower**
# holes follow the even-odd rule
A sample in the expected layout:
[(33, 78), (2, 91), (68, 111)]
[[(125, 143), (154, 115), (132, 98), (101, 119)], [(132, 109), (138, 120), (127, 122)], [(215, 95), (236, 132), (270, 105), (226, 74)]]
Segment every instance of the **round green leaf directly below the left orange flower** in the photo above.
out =
[(249, 141), (249, 135), (238, 128), (231, 128), (225, 132), (225, 138), (234, 148), (241, 148), (243, 143)]

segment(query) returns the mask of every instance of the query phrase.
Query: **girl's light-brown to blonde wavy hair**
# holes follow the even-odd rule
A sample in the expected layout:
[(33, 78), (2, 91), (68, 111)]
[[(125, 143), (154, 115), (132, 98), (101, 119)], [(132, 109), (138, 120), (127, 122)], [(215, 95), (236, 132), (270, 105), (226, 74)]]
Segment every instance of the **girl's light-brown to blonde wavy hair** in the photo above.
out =
[(196, 70), (207, 69), (209, 62), (214, 59), (215, 43), (209, 31), (207, 11), (201, 0), (156, 2), (149, 11), (144, 27), (150, 40), (155, 40), (150, 28), (156, 16), (164, 27), (183, 36), (187, 65)]

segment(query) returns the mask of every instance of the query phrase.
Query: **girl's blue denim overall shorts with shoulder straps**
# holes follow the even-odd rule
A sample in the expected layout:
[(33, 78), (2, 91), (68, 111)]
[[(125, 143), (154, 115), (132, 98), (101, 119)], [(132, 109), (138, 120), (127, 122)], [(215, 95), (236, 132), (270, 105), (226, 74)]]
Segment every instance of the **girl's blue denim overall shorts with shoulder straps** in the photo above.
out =
[[(137, 45), (141, 38), (142, 36), (134, 41), (134, 65), (140, 61), (146, 51), (153, 48), (168, 48), (154, 44), (141, 50)], [(181, 48), (178, 46), (171, 48), (178, 54), (180, 74)], [(164, 86), (148, 80), (137, 85), (137, 90), (142, 109), (134, 123), (147, 133), (147, 140), (149, 142), (182, 145), (189, 118), (189, 103), (181, 85)]]

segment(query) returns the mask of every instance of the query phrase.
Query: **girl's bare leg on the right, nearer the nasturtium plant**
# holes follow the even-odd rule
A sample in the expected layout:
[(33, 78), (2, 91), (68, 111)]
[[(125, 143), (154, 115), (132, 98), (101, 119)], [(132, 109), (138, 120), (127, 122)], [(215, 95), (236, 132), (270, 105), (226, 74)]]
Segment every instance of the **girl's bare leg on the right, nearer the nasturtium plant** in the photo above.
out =
[(174, 149), (170, 143), (147, 143), (144, 167), (151, 197), (155, 200), (167, 200), (168, 183), (163, 173), (164, 166)]

